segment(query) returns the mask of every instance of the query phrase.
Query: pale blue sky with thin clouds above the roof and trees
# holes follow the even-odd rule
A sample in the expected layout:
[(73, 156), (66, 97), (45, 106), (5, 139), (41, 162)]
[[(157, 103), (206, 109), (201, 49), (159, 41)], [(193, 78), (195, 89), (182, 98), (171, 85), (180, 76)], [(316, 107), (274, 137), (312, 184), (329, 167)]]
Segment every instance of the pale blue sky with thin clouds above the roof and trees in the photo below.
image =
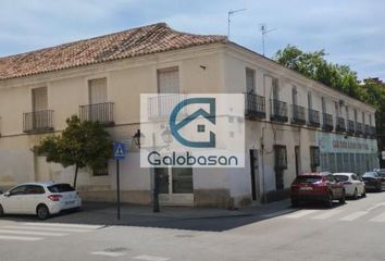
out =
[(0, 0), (0, 57), (165, 22), (192, 34), (227, 35), (265, 55), (287, 45), (325, 49), (359, 79), (385, 79), (384, 0)]

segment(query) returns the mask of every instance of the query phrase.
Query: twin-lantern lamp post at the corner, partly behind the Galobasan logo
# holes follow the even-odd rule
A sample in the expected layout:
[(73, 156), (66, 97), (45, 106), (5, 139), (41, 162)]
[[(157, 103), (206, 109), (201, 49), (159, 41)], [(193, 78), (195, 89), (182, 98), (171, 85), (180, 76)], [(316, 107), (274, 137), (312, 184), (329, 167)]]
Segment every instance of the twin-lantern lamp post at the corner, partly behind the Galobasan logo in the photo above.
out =
[[(152, 133), (152, 146), (148, 147), (148, 148), (144, 148), (141, 147), (141, 145), (144, 144), (145, 140), (145, 135), (142, 133), (140, 133), (140, 129), (138, 129), (136, 132), (136, 134), (134, 135), (134, 142), (136, 144), (136, 146), (140, 149), (148, 149), (148, 150), (161, 150), (163, 148), (169, 147), (169, 144), (171, 144), (172, 141), (172, 134), (169, 129), (169, 127), (166, 127), (162, 134), (162, 139), (165, 144), (167, 144), (166, 146), (157, 146), (157, 139), (156, 139), (156, 133)], [(156, 171), (154, 167), (150, 169), (151, 172), (151, 181), (152, 181), (152, 212), (157, 213), (160, 212), (160, 207), (159, 207), (159, 176), (158, 173)]]

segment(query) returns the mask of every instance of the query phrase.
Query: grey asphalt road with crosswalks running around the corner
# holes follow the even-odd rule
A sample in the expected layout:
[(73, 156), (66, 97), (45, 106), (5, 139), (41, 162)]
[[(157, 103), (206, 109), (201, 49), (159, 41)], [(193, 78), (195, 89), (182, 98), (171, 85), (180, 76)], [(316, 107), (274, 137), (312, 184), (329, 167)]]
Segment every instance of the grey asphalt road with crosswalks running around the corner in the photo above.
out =
[[(333, 209), (190, 221), (212, 231), (2, 219), (0, 260), (384, 260), (384, 199), (385, 192), (369, 194)], [(215, 229), (236, 220), (238, 226)]]

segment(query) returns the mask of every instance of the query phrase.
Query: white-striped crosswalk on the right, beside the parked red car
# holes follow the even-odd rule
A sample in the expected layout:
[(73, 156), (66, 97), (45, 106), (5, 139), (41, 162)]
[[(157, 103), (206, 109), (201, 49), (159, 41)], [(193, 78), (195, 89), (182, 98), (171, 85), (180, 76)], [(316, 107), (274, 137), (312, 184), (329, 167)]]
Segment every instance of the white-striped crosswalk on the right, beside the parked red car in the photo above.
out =
[(289, 219), (289, 220), (335, 220), (341, 222), (352, 222), (352, 221), (368, 221), (373, 223), (385, 223), (385, 212), (369, 210), (298, 210), (293, 213), (287, 213), (284, 215), (276, 215), (278, 219)]

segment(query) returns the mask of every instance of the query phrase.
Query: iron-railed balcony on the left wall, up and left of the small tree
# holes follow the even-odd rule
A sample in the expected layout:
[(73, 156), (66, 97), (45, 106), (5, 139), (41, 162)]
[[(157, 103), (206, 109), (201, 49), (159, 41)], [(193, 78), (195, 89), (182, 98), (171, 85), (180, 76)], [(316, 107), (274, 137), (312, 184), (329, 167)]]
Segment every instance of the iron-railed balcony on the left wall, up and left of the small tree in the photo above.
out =
[(53, 130), (52, 125), (53, 111), (36, 111), (23, 114), (24, 133), (48, 133)]

